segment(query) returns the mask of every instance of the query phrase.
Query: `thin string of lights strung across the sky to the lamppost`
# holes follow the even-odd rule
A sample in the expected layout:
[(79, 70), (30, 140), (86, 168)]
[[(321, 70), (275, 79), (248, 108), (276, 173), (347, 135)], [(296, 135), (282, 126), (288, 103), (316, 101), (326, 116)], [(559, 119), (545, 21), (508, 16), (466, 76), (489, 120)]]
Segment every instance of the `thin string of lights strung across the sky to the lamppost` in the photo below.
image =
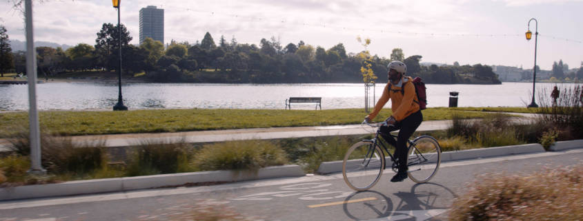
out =
[[(268, 21), (268, 22), (277, 22), (277, 23), (287, 23), (287, 24), (294, 24), (294, 25), (303, 25), (306, 27), (313, 27), (313, 28), (329, 28), (334, 30), (348, 30), (348, 31), (362, 31), (362, 32), (378, 32), (382, 34), (404, 34), (410, 36), (436, 36), (436, 37), (448, 37), (448, 36), (455, 36), (455, 37), (520, 37), (524, 34), (473, 34), (473, 33), (429, 33), (429, 32), (401, 32), (401, 31), (394, 31), (394, 30), (384, 30), (384, 29), (370, 29), (370, 28), (353, 28), (353, 27), (344, 27), (338, 25), (329, 25), (326, 23), (307, 23), (307, 22), (298, 22), (298, 21), (288, 21), (287, 19), (273, 19), (273, 18), (264, 18), (264, 17), (256, 17), (256, 16), (245, 16), (240, 14), (231, 14), (231, 13), (223, 13), (223, 12), (215, 12), (215, 11), (208, 11), (208, 10), (197, 10), (193, 8), (178, 8), (174, 6), (170, 6), (170, 8), (175, 8), (177, 10), (186, 10), (187, 12), (194, 12), (199, 14), (207, 14), (211, 17), (215, 16), (222, 16), (222, 17), (230, 17), (233, 19), (239, 20), (247, 20), (247, 21)], [(539, 34), (539, 36), (548, 37), (551, 39), (558, 39), (562, 41), (567, 41), (571, 43), (583, 43), (583, 41), (573, 40), (573, 39), (565, 39), (551, 35), (543, 35)]]

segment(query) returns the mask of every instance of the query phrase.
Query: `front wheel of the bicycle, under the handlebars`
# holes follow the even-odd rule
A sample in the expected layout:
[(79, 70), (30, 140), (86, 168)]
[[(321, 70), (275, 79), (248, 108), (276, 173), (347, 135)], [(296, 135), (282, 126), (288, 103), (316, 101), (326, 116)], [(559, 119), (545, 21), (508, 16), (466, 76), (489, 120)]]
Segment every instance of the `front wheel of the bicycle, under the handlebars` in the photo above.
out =
[(379, 182), (384, 165), (383, 151), (371, 141), (360, 141), (346, 151), (342, 176), (348, 187), (365, 191)]

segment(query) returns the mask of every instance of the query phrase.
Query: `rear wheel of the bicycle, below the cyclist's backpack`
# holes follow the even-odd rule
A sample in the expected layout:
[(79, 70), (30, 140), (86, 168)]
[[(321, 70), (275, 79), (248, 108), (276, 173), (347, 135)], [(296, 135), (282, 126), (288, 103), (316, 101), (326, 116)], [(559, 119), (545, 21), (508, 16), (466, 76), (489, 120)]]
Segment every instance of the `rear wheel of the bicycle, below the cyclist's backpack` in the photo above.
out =
[(442, 162), (442, 149), (431, 136), (419, 136), (409, 147), (408, 176), (415, 182), (427, 182), (435, 176)]

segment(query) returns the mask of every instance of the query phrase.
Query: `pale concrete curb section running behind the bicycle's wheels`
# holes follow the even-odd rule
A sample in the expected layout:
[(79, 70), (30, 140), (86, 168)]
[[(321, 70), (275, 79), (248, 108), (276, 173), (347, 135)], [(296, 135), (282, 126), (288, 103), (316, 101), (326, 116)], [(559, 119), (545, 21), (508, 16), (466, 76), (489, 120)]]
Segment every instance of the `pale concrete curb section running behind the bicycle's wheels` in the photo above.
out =
[[(581, 146), (583, 147), (583, 145)], [(467, 149), (460, 151), (442, 152), (442, 162), (452, 160), (468, 160), (473, 158), (486, 158), (494, 156), (506, 156), (512, 154), (533, 154), (542, 153), (542, 145), (534, 143), (528, 145), (512, 145), (504, 147), (488, 147), (482, 149)], [(386, 158), (387, 165), (391, 163), (391, 158)], [(322, 162), (318, 167), (318, 174), (337, 173), (342, 171), (342, 160), (332, 162)]]

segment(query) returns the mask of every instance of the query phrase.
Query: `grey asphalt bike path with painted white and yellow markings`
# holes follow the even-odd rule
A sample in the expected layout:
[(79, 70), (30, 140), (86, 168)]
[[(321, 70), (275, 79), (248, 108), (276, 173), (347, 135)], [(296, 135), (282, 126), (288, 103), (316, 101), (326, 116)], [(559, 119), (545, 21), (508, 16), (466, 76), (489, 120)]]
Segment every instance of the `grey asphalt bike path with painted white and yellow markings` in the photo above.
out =
[(445, 162), (426, 184), (349, 189), (342, 173), (89, 196), (0, 202), (0, 220), (193, 220), (221, 215), (248, 220), (446, 220), (455, 196), (477, 176), (527, 176), (583, 164), (583, 149)]

